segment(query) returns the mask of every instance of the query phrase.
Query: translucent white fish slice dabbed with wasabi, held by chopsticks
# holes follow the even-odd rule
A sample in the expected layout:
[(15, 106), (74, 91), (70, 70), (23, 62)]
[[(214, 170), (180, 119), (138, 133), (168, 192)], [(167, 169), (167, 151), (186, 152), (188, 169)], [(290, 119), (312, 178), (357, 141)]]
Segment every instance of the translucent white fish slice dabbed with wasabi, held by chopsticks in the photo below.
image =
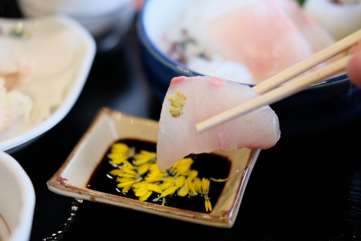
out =
[[(182, 115), (171, 117), (167, 97), (177, 91), (186, 95)], [(179, 93), (179, 92), (178, 92)], [(159, 169), (170, 168), (183, 157), (216, 149), (234, 150), (243, 147), (268, 149), (280, 138), (278, 117), (265, 106), (238, 117), (202, 134), (197, 122), (230, 109), (257, 94), (248, 85), (217, 77), (177, 77), (171, 80), (160, 116), (157, 142)], [(173, 111), (175, 112), (175, 111)]]

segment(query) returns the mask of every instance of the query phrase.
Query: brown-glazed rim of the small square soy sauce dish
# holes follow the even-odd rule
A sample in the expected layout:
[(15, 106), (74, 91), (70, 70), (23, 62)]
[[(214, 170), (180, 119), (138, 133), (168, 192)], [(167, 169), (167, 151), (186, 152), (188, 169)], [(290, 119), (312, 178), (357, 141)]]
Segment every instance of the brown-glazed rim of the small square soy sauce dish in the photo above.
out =
[[(95, 201), (100, 203), (106, 203), (113, 206), (118, 206), (121, 208), (130, 208), (135, 209), (137, 211), (148, 212), (150, 214), (165, 216), (166, 218), (173, 218), (178, 220), (183, 220), (191, 223), (203, 224), (218, 228), (231, 228), (234, 225), (236, 217), (238, 215), (240, 203), (243, 198), (243, 194), (245, 188), (247, 186), (247, 182), (249, 176), (251, 175), (252, 169), (258, 155), (260, 154), (260, 149), (251, 150), (248, 156), (247, 164), (245, 165), (244, 173), (242, 174), (242, 180), (239, 181), (239, 184), (236, 188), (234, 195), (230, 198), (234, 198), (232, 200), (232, 205), (227, 210), (222, 210), (220, 214), (212, 215), (211, 213), (202, 213), (202, 212), (195, 212), (190, 210), (184, 210), (174, 207), (167, 207), (160, 206), (156, 203), (149, 203), (143, 202), (136, 199), (130, 199), (121, 197), (114, 194), (108, 194), (101, 191), (87, 189), (85, 186), (74, 186), (71, 184), (66, 183), (66, 179), (62, 177), (63, 172), (65, 172), (68, 168), (68, 165), (74, 161), (74, 156), (77, 155), (78, 152), (82, 150), (82, 146), (84, 142), (87, 141), (88, 136), (91, 134), (92, 130), (96, 129), (97, 125), (99, 124), (98, 120), (101, 119), (103, 116), (111, 116), (111, 115), (120, 114), (121, 117), (118, 119), (122, 119), (123, 117), (130, 118), (130, 119), (137, 119), (139, 121), (147, 121), (151, 125), (158, 125), (158, 121), (147, 119), (143, 117), (136, 117), (127, 115), (120, 111), (116, 111), (107, 107), (103, 107), (95, 116), (93, 122), (91, 123), (90, 127), (87, 131), (83, 134), (79, 142), (75, 145), (74, 149), (70, 152), (68, 158), (65, 162), (61, 165), (61, 167), (57, 170), (57, 172), (48, 180), (47, 186), (48, 189), (60, 194), (74, 198), (85, 199), (89, 201)], [(157, 208), (158, 207), (158, 208)]]

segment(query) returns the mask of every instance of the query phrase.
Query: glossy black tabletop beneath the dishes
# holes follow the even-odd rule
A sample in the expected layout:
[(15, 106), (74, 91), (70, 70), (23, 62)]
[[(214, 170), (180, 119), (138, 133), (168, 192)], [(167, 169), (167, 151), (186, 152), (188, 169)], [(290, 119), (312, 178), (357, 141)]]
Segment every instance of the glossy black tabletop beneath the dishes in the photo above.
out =
[[(15, 1), (0, 0), (0, 17), (22, 14)], [(116, 48), (97, 53), (69, 114), (11, 154), (35, 188), (31, 241), (361, 240), (361, 119), (327, 132), (281, 136), (274, 147), (261, 151), (234, 227), (222, 229), (86, 200), (78, 203), (48, 190), (46, 182), (102, 107), (159, 119), (161, 103), (149, 88), (134, 26)], [(74, 205), (77, 211), (71, 211)], [(71, 212), (75, 215), (68, 220)]]

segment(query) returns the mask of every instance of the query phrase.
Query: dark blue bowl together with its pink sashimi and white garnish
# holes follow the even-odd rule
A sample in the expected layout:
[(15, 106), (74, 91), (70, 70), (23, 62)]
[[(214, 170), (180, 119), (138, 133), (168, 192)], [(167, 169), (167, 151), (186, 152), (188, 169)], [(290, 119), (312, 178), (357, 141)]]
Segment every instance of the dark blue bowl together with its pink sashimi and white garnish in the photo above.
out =
[[(139, 15), (144, 66), (160, 100), (173, 77), (217, 76), (253, 86), (335, 42), (292, 0), (206, 3), (148, 0)], [(340, 73), (271, 107), (284, 135), (307, 134), (360, 115), (358, 94)]]

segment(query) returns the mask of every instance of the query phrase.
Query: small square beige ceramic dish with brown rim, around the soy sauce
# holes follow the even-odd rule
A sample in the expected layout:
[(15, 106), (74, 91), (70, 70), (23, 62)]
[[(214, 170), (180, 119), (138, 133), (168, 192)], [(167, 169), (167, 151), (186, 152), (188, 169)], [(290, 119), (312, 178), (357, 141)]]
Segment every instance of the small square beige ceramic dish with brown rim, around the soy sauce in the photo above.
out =
[(210, 213), (182, 210), (87, 189), (93, 171), (110, 145), (123, 138), (156, 142), (158, 128), (157, 121), (125, 115), (108, 108), (101, 109), (68, 159), (47, 182), (49, 190), (61, 195), (108, 203), (167, 218), (231, 228), (260, 150), (239, 149), (214, 152), (229, 157), (231, 169), (229, 180), (226, 181), (218, 202)]

